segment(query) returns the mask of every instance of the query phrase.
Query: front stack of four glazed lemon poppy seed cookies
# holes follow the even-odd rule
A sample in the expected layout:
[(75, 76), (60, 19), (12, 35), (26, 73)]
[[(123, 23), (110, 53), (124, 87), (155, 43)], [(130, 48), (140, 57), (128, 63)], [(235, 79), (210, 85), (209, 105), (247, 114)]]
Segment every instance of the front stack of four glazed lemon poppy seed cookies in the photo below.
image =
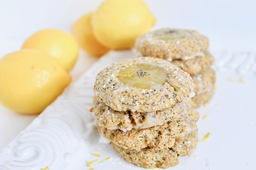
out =
[(193, 80), (166, 60), (116, 62), (96, 77), (96, 127), (128, 162), (168, 168), (193, 152), (199, 114), (191, 109)]

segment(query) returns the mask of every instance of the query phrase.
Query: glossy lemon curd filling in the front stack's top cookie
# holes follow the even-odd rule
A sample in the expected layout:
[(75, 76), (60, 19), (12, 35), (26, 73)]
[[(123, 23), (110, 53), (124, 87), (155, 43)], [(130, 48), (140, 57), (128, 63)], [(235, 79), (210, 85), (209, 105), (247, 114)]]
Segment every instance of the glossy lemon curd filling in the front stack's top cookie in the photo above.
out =
[(166, 74), (163, 68), (147, 63), (135, 66), (126, 65), (115, 76), (125, 85), (143, 89), (159, 88), (166, 81)]

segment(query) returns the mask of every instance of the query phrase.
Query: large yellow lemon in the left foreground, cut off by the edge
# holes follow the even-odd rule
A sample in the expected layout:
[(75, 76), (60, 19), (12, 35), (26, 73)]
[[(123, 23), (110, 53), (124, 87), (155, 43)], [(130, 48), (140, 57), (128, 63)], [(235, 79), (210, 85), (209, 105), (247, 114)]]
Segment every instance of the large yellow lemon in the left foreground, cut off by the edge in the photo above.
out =
[(20, 50), (0, 60), (0, 102), (22, 114), (38, 114), (59, 96), (71, 76), (52, 56)]

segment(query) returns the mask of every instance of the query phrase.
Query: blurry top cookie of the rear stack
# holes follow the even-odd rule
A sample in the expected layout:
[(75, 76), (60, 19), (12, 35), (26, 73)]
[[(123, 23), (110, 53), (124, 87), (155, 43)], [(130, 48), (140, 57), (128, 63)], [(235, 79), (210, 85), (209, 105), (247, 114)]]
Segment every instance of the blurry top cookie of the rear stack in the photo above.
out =
[(146, 33), (136, 40), (135, 48), (142, 56), (163, 59), (193, 59), (203, 56), (209, 40), (194, 30), (165, 28)]

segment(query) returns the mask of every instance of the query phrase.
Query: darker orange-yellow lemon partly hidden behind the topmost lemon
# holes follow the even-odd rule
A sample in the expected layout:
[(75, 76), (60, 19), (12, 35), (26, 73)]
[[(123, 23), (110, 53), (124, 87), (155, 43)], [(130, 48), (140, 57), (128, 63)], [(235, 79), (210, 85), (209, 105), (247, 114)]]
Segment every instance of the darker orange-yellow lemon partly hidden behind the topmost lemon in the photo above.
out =
[(72, 32), (79, 46), (86, 52), (94, 56), (102, 56), (109, 51), (109, 48), (103, 46), (93, 35), (91, 29), (91, 13), (80, 17), (72, 26)]

